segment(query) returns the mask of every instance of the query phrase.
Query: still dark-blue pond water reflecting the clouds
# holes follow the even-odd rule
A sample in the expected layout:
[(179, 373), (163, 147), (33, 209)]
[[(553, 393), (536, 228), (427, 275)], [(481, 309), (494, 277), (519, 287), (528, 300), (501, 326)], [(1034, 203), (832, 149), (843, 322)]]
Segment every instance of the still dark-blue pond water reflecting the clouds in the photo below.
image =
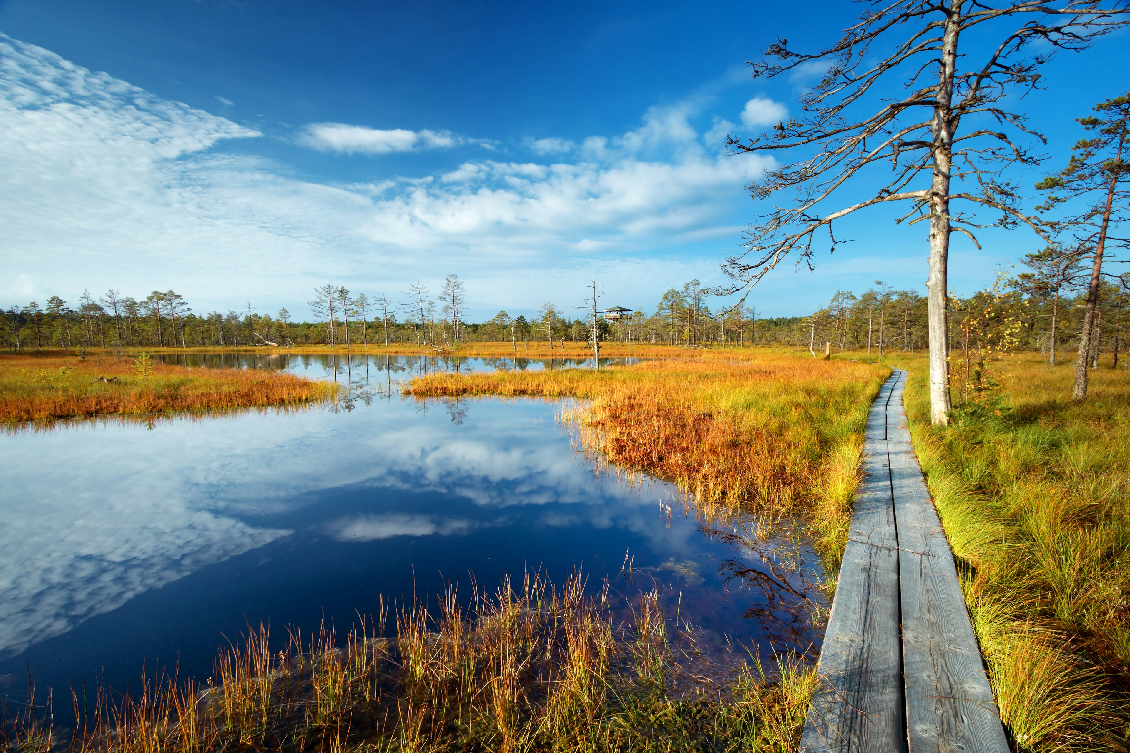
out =
[(155, 663), (203, 678), (249, 624), (341, 633), (381, 595), (434, 604), (447, 581), (469, 595), (472, 579), (560, 583), (575, 568), (594, 588), (609, 578), (625, 608), (659, 587), (705, 648), (818, 648), (819, 567), (803, 544), (706, 522), (673, 487), (600, 469), (574, 449), (560, 402), (395, 386), (560, 360), (223, 358), (344, 389), (298, 411), (0, 435), (0, 693), (23, 694), (28, 666), (60, 691), (124, 688)]

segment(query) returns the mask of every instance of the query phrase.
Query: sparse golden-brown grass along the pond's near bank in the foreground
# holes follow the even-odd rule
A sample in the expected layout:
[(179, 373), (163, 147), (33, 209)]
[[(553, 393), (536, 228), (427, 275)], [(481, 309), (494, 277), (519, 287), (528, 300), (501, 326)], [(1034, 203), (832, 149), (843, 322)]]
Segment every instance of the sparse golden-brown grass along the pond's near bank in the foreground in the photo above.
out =
[[(271, 643), (260, 628), (224, 650), (206, 686), (144, 680), (131, 695), (72, 693), (78, 724), (52, 727), (50, 702), (5, 708), (2, 750), (47, 753), (376, 753), (385, 751), (791, 751), (815, 685), (811, 667), (779, 659), (766, 677), (742, 665), (725, 688), (684, 665), (658, 594), (632, 624), (615, 622), (608, 588), (584, 595), (527, 577), (476, 594), (453, 590), (351, 631)], [(676, 642), (683, 646), (676, 646)], [(681, 655), (680, 662), (676, 656)], [(772, 681), (772, 682), (771, 682)], [(90, 701), (90, 703), (87, 703)]]

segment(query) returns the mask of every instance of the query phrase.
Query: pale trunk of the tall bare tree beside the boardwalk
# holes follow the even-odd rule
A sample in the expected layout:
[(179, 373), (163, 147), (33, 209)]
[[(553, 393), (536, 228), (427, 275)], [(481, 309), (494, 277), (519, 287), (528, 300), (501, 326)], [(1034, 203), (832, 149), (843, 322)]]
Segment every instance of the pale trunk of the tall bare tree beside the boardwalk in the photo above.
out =
[(927, 278), (927, 318), (930, 331), (930, 421), (949, 423), (949, 351), (946, 338), (947, 268), (949, 264), (949, 180), (954, 148), (950, 110), (962, 0), (950, 0), (941, 42), (941, 76), (933, 108), (933, 180), (930, 186), (930, 274)]

